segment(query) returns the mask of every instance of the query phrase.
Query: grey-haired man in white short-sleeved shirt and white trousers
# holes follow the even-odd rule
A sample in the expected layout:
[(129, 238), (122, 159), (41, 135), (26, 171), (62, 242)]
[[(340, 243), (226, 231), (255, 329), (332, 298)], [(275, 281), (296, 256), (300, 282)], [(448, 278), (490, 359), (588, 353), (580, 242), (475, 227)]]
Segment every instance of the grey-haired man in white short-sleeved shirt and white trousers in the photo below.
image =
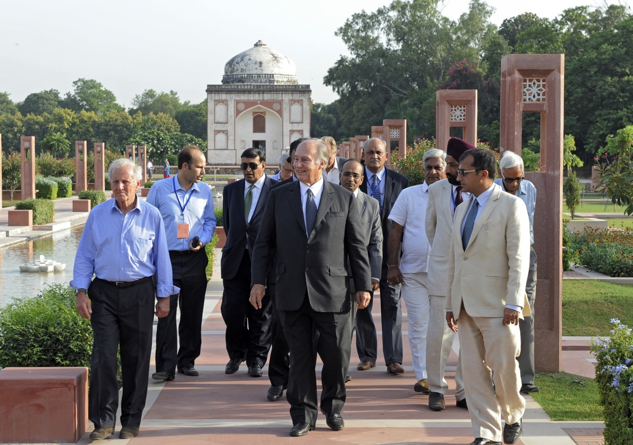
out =
[[(444, 169), (446, 153), (430, 149), (422, 157), (424, 182), (404, 189), (389, 213), (391, 232), (389, 233), (389, 284), (402, 287), (402, 298), (406, 304), (409, 322), (409, 345), (411, 361), (417, 382), (413, 391), (429, 394), (427, 381), (427, 328), (429, 327), (429, 279), (427, 258), (429, 241), (425, 232), (429, 185), (446, 178)], [(402, 255), (398, 256), (402, 242)]]

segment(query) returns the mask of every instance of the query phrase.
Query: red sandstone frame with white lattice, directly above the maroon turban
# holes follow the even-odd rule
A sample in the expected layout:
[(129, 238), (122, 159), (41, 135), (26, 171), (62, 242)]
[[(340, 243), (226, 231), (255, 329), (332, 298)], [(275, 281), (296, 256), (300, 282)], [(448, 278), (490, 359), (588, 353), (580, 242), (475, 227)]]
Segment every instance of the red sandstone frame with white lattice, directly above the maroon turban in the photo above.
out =
[(477, 90), (436, 92), (436, 146), (446, 151), (451, 127), (463, 128), (462, 138), (477, 144)]

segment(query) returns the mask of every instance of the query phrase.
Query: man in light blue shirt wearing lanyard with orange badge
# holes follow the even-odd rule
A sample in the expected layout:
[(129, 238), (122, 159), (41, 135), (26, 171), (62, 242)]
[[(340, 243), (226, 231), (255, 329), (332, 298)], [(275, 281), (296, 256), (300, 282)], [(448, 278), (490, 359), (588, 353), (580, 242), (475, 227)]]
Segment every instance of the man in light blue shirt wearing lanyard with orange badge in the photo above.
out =
[[(202, 177), (206, 160), (196, 146), (178, 154), (178, 173), (152, 185), (147, 203), (158, 208), (165, 221), (165, 233), (172, 262), (173, 284), (180, 295), (170, 297), (170, 314), (158, 320), (156, 329), (155, 380), (173, 380), (178, 372), (196, 376), (194, 368), (202, 345), (202, 313), (206, 293), (204, 246), (215, 233), (213, 194)], [(176, 309), (180, 305), (180, 349), (177, 351)]]

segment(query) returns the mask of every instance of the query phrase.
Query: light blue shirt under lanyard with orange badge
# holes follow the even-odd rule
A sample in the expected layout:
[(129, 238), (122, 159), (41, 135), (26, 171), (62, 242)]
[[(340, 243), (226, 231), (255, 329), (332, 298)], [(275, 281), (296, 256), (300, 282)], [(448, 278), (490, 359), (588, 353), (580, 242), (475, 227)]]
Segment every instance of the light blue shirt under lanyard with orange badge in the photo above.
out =
[[(215, 233), (216, 220), (211, 187), (204, 182), (194, 182), (189, 191), (185, 192), (180, 187), (178, 175), (179, 173), (172, 178), (161, 179), (152, 185), (146, 202), (156, 207), (163, 216), (168, 248), (185, 251), (196, 236), (206, 246)], [(181, 206), (185, 206), (185, 203), (187, 206), (183, 212)], [(189, 238), (178, 237), (179, 223), (189, 224)]]

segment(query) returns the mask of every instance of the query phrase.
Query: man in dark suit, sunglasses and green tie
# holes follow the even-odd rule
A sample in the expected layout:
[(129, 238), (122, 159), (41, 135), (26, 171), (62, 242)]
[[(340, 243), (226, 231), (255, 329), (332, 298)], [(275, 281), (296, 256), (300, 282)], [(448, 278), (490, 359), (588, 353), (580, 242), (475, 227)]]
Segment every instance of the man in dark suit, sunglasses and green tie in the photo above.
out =
[[(254, 308), (248, 301), (251, 255), (270, 187), (276, 181), (266, 177), (266, 155), (258, 148), (244, 150), (240, 168), (244, 179), (224, 187), (222, 194), (227, 242), (222, 248), (224, 292), (221, 310), (227, 325), (225, 339), (230, 358), (224, 372), (235, 373), (242, 361), (246, 361), (248, 374), (261, 377), (270, 349), (272, 304), (269, 292), (262, 299), (260, 308)], [(270, 275), (268, 277), (270, 281)]]

